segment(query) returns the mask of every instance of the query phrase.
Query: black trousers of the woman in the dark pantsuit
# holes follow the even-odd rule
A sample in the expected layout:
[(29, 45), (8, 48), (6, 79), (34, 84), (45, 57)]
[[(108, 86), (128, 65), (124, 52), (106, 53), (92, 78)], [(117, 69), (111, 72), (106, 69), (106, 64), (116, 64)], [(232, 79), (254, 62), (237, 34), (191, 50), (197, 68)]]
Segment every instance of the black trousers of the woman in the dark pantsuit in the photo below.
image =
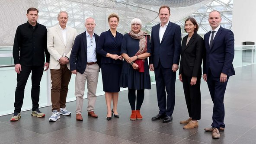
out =
[(184, 74), (182, 74), (182, 84), (189, 117), (191, 117), (192, 120), (199, 120), (201, 119), (201, 77), (197, 77), (194, 86), (190, 85), (191, 79), (192, 77), (186, 77)]

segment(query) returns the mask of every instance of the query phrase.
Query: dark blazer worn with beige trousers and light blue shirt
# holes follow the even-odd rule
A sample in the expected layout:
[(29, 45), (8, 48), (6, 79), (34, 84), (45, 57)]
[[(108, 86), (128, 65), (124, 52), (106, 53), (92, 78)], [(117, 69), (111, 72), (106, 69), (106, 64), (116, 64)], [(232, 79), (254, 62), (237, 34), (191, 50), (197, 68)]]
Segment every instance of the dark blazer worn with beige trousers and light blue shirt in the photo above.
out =
[[(96, 33), (94, 33), (94, 36), (97, 44), (99, 35), (96, 35)], [(97, 64), (99, 65), (99, 68), (100, 68), (101, 57), (99, 54), (96, 54), (96, 58), (97, 58)], [(71, 71), (77, 70), (81, 74), (84, 73), (86, 64), (87, 64), (86, 32), (83, 32), (80, 35), (77, 35), (77, 37), (75, 38), (74, 45), (70, 54), (69, 62), (70, 62)]]

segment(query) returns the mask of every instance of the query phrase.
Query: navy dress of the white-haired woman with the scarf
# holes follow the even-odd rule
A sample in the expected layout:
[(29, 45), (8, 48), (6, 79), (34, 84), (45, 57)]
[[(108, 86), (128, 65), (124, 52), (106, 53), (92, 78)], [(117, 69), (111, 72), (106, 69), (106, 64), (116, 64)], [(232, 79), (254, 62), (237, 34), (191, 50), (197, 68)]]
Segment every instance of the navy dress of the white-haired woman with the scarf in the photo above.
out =
[[(125, 34), (122, 41), (121, 54), (125, 53), (129, 57), (133, 57), (138, 50), (139, 40), (131, 38), (128, 33)], [(150, 53), (149, 35), (147, 36), (147, 52)], [(131, 64), (124, 60), (119, 86), (134, 90), (151, 89), (147, 58), (145, 58), (144, 73), (134, 70)]]

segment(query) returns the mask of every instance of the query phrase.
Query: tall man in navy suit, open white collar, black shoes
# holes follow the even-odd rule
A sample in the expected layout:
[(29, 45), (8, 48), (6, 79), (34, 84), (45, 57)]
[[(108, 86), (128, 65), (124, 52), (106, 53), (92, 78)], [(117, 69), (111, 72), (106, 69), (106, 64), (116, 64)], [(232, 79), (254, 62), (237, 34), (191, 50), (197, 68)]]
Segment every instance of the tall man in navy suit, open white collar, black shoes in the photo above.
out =
[(161, 23), (152, 27), (150, 40), (149, 69), (155, 72), (159, 107), (159, 113), (152, 120), (164, 118), (164, 123), (173, 119), (176, 71), (179, 69), (181, 48), (181, 29), (179, 25), (169, 21), (170, 15), (169, 6), (159, 8)]

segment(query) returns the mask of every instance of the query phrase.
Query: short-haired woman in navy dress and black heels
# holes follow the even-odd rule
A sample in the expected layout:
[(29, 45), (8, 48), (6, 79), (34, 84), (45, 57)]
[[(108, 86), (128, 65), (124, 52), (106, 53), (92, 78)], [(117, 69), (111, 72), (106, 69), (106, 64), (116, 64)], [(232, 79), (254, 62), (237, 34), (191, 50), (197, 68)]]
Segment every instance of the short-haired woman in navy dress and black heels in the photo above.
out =
[[(96, 51), (102, 55), (101, 74), (103, 91), (105, 92), (107, 104), (107, 120), (110, 120), (112, 114), (119, 118), (117, 112), (119, 78), (122, 70), (123, 57), (120, 54), (123, 35), (116, 31), (119, 17), (112, 13), (108, 17), (110, 29), (102, 32), (99, 36)], [(111, 110), (111, 101), (113, 101), (113, 109)]]

